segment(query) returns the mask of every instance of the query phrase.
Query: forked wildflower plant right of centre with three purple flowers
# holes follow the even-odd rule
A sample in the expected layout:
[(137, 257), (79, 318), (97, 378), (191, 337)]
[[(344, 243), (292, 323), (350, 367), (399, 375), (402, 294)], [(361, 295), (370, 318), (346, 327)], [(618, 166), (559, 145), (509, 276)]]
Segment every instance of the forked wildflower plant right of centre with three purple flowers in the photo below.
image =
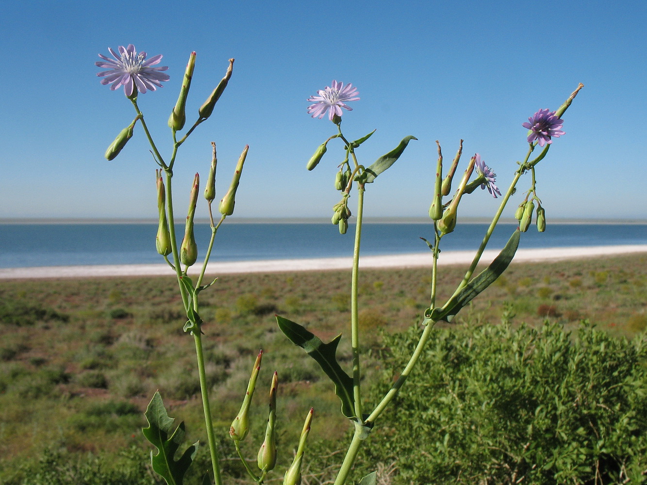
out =
[[(341, 334), (334, 338), (329, 343), (323, 343), (312, 332), (306, 330), (302, 325), (294, 323), (287, 318), (277, 316), (278, 326), (285, 333), (285, 335), (296, 345), (302, 347), (310, 356), (316, 360), (322, 367), (323, 372), (334, 383), (334, 389), (337, 396), (340, 398), (342, 404), (342, 413), (348, 418), (354, 426), (353, 438), (345, 458), (340, 465), (335, 485), (343, 485), (347, 482), (353, 463), (360, 449), (360, 445), (367, 439), (373, 427), (376, 426), (377, 420), (382, 413), (387, 409), (388, 404), (393, 400), (398, 393), (400, 387), (406, 382), (413, 367), (415, 367), (419, 357), (421, 356), (422, 349), (428, 341), (435, 323), (438, 321), (445, 321), (450, 323), (456, 314), (465, 307), (476, 297), (479, 293), (483, 292), (490, 284), (492, 284), (507, 268), (512, 261), (514, 254), (520, 242), (521, 232), (525, 232), (532, 221), (534, 215), (534, 201), (537, 202), (538, 208), (536, 211), (536, 223), (540, 232), (545, 230), (545, 211), (541, 206), (541, 202), (536, 195), (535, 189), (535, 167), (546, 156), (549, 148), (552, 145), (553, 137), (558, 138), (564, 135), (562, 131), (563, 120), (562, 115), (566, 109), (571, 105), (571, 102), (577, 95), (578, 91), (582, 89), (583, 85), (580, 84), (577, 89), (567, 98), (567, 100), (556, 110), (550, 111), (549, 109), (540, 109), (535, 113), (529, 122), (523, 123), (523, 127), (529, 129), (527, 135), (527, 142), (529, 143), (528, 151), (523, 158), (522, 162), (518, 163), (518, 168), (514, 172), (514, 178), (510, 183), (509, 188), (502, 194), (501, 190), (496, 186), (496, 174), (494, 171), (485, 164), (481, 154), (475, 153), (470, 157), (468, 164), (461, 176), (457, 189), (454, 195), (446, 200), (444, 198), (450, 195), (452, 189), (452, 182), (454, 181), (457, 166), (459, 165), (461, 155), (463, 152), (463, 140), (461, 140), (459, 149), (452, 160), (452, 164), (447, 173), (443, 177), (443, 154), (439, 142), (437, 144), (438, 158), (436, 162), (435, 177), (433, 180), (432, 191), (432, 204), (429, 209), (430, 218), (433, 221), (432, 237), (429, 240), (423, 239), (432, 252), (432, 285), (430, 288), (430, 302), (429, 306), (422, 312), (421, 315), (421, 333), (417, 346), (410, 356), (410, 360), (404, 367), (399, 370), (397, 375), (399, 377), (394, 381), (391, 389), (382, 396), (380, 402), (372, 408), (366, 408), (362, 399), (362, 389), (360, 382), (362, 381), (362, 368), (361, 368), (361, 355), (360, 355), (360, 333), (358, 329), (358, 268), (359, 268), (359, 254), (360, 254), (360, 241), (362, 237), (362, 217), (363, 217), (363, 200), (364, 191), (369, 183), (391, 167), (402, 155), (402, 152), (410, 142), (417, 138), (413, 136), (406, 136), (402, 139), (400, 144), (384, 156), (378, 158), (370, 166), (364, 166), (358, 162), (356, 156), (356, 149), (368, 138), (373, 135), (371, 131), (366, 136), (362, 136), (354, 141), (349, 139), (342, 133), (342, 108), (348, 111), (351, 110), (345, 103), (358, 100), (358, 92), (351, 84), (344, 85), (338, 81), (333, 81), (331, 87), (318, 91), (317, 96), (311, 96), (308, 101), (314, 102), (313, 105), (308, 107), (308, 113), (312, 117), (319, 119), (327, 113), (328, 118), (336, 127), (336, 133), (329, 136), (323, 144), (321, 144), (314, 155), (307, 163), (307, 169), (312, 170), (320, 162), (322, 162), (324, 155), (327, 153), (327, 144), (334, 138), (339, 138), (343, 144), (343, 159), (337, 166), (337, 171), (334, 178), (335, 188), (342, 193), (342, 199), (333, 207), (332, 222), (339, 228), (340, 233), (344, 234), (347, 231), (348, 220), (351, 216), (351, 211), (348, 208), (348, 200), (350, 198), (351, 189), (353, 185), (357, 188), (358, 207), (356, 213), (355, 223), (355, 250), (353, 252), (353, 268), (351, 274), (351, 315), (350, 315), (350, 334), (351, 334), (351, 348), (352, 348), (352, 371), (349, 375), (340, 364), (336, 357), (336, 349), (341, 339)], [(539, 155), (532, 158), (532, 154), (536, 147), (542, 148)], [(499, 222), (501, 214), (507, 205), (510, 197), (516, 192), (517, 184), (521, 175), (531, 173), (531, 187), (526, 192), (525, 200), (521, 202), (516, 217), (520, 220), (520, 226), (510, 236), (509, 241), (501, 250), (499, 255), (492, 261), (488, 267), (480, 274), (474, 276), (474, 270), (481, 260), (481, 255), (488, 244), (490, 236)], [(472, 175), (476, 177), (472, 178)], [(470, 181), (470, 178), (472, 179)], [(449, 236), (454, 232), (454, 228), (459, 222), (458, 208), (461, 199), (472, 192), (477, 187), (487, 189), (490, 195), (495, 199), (501, 197), (499, 208), (492, 218), (492, 222), (488, 227), (483, 241), (479, 246), (476, 255), (469, 268), (466, 270), (465, 276), (459, 283), (447, 301), (440, 303), (436, 298), (437, 286), (437, 262), (441, 257), (441, 240), (443, 237)], [(374, 483), (375, 475), (372, 473), (364, 477), (360, 483)]]

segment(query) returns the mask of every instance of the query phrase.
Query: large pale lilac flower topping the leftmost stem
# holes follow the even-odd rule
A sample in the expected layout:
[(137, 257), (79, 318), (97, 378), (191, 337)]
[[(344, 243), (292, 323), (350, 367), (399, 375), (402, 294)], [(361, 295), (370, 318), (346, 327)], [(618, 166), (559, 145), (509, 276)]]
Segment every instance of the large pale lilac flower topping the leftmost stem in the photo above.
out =
[(126, 96), (132, 96), (135, 90), (142, 94), (146, 89), (155, 91), (157, 87), (162, 87), (162, 81), (168, 81), (168, 74), (160, 72), (168, 69), (168, 66), (151, 67), (158, 64), (162, 55), (153, 56), (146, 61), (146, 52), (137, 54), (135, 46), (129, 44), (128, 47), (119, 46), (119, 54), (108, 47), (108, 50), (116, 60), (107, 58), (103, 54), (99, 57), (104, 61), (97, 61), (94, 64), (98, 67), (104, 67), (102, 72), (97, 72), (97, 76), (105, 76), (101, 83), (106, 85), (112, 83), (110, 89), (115, 91), (120, 86), (124, 86)]

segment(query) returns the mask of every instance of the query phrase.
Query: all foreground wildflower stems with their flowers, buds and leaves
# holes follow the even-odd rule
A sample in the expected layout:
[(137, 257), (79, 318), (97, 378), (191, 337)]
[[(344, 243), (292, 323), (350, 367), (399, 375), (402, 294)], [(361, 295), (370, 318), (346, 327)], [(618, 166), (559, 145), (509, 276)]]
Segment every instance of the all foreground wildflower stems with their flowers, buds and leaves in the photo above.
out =
[[(153, 160), (157, 164), (156, 184), (159, 224), (155, 238), (155, 246), (157, 252), (177, 276), (179, 293), (181, 294), (182, 305), (186, 312), (184, 331), (190, 334), (195, 341), (196, 367), (201, 388), (205, 430), (210, 449), (213, 480), (215, 484), (221, 485), (223, 483), (223, 477), (221, 476), (221, 457), (219, 457), (216, 446), (213, 425), (214, 418), (212, 416), (210, 397), (208, 395), (202, 343), (204, 321), (201, 318), (199, 300), (201, 292), (215, 283), (215, 280), (206, 282), (204, 275), (214, 246), (217, 230), (225, 222), (226, 217), (234, 213), (236, 191), (241, 180), (243, 165), (247, 158), (248, 146), (245, 146), (243, 149), (228, 191), (226, 191), (218, 204), (218, 212), (220, 214), (218, 219), (218, 217), (214, 218), (214, 211), (212, 209), (212, 203), (216, 200), (215, 173), (217, 169), (216, 147), (215, 143), (212, 142), (212, 160), (206, 182), (204, 183), (204, 199), (206, 200), (206, 210), (210, 219), (212, 234), (206, 244), (206, 251), (197, 275), (190, 276), (189, 270), (199, 261), (200, 256), (199, 244), (195, 240), (193, 231), (193, 221), (195, 219), (195, 213), (198, 210), (201, 177), (196, 173), (190, 188), (182, 241), (177, 241), (175, 237), (172, 182), (179, 148), (184, 144), (188, 136), (212, 115), (215, 103), (219, 100), (223, 91), (225, 91), (232, 76), (234, 59), (230, 59), (225, 76), (216, 85), (214, 91), (206, 97), (204, 103), (197, 109), (197, 113), (194, 112), (195, 121), (193, 124), (181, 135), (180, 132), (186, 126), (188, 93), (193, 78), (193, 70), (195, 69), (196, 56), (195, 52), (192, 52), (184, 72), (177, 103), (171, 110), (168, 118), (168, 127), (171, 130), (172, 139), (171, 153), (169, 156), (162, 156), (157, 148), (157, 144), (155, 144), (149, 133), (148, 125), (146, 124), (144, 114), (138, 107), (137, 99), (139, 94), (144, 94), (147, 91), (155, 91), (157, 87), (162, 86), (163, 81), (168, 81), (169, 76), (164, 72), (168, 68), (165, 66), (157, 67), (162, 56), (153, 56), (153, 58), (147, 61), (146, 52), (137, 53), (133, 45), (119, 47), (118, 52), (110, 49), (110, 52), (114, 59), (100, 54), (102, 61), (98, 61), (96, 65), (107, 70), (99, 72), (97, 75), (103, 78), (101, 81), (102, 84), (110, 85), (112, 90), (116, 90), (118, 87), (124, 87), (124, 94), (133, 104), (136, 116), (119, 133), (113, 143), (110, 144), (105, 153), (105, 158), (107, 160), (113, 160), (118, 156), (124, 147), (126, 147), (127, 142), (134, 136), (137, 124), (140, 124), (151, 146)], [(430, 219), (432, 220), (432, 224), (430, 224), (431, 236), (428, 239), (421, 238), (428, 245), (433, 257), (429, 304), (420, 316), (421, 327), (419, 330), (419, 341), (413, 352), (411, 352), (408, 363), (406, 363), (404, 369), (399, 370), (397, 373), (398, 378), (394, 380), (391, 388), (382, 396), (376, 405), (369, 405), (366, 402), (365, 395), (362, 393), (363, 372), (362, 354), (360, 352), (360, 349), (362, 349), (360, 346), (360, 338), (362, 336), (360, 335), (358, 322), (358, 278), (364, 218), (364, 195), (367, 189), (370, 188), (370, 184), (373, 184), (379, 175), (393, 166), (399, 160), (400, 156), (403, 155), (411, 140), (417, 140), (417, 138), (412, 135), (404, 136), (393, 150), (380, 156), (372, 164), (362, 164), (360, 163), (360, 158), (358, 158), (358, 153), (361, 152), (362, 145), (371, 138), (375, 130), (355, 139), (353, 139), (354, 137), (345, 135), (342, 131), (342, 116), (347, 111), (352, 111), (352, 108), (347, 103), (360, 100), (356, 87), (350, 83), (344, 84), (333, 80), (331, 86), (325, 87), (325, 89), (318, 91), (316, 95), (307, 99), (312, 103), (307, 107), (307, 113), (312, 118), (318, 118), (320, 120), (324, 116), (327, 116), (328, 120), (334, 126), (334, 133), (316, 148), (313, 156), (307, 162), (307, 169), (313, 170), (322, 162), (330, 142), (333, 142), (333, 144), (340, 142), (342, 146), (341, 162), (336, 165), (336, 170), (334, 171), (334, 187), (340, 192), (340, 200), (333, 206), (333, 215), (331, 217), (331, 222), (337, 226), (338, 231), (342, 235), (347, 233), (349, 229), (349, 219), (352, 216), (349, 202), (351, 202), (353, 188), (355, 188), (356, 193), (355, 244), (351, 269), (351, 308), (349, 318), (352, 349), (351, 371), (347, 372), (336, 356), (337, 347), (342, 338), (341, 334), (328, 343), (324, 343), (313, 332), (305, 329), (302, 325), (282, 316), (276, 316), (276, 319), (278, 326), (285, 336), (292, 343), (302, 347), (329, 377), (334, 385), (334, 393), (340, 400), (341, 412), (352, 423), (353, 438), (347, 448), (342, 463), (338, 467), (336, 479), (334, 480), (335, 485), (343, 485), (348, 482), (360, 446), (369, 438), (373, 428), (378, 426), (380, 416), (387, 409), (388, 405), (391, 404), (393, 398), (410, 376), (412, 369), (417, 364), (426, 343), (432, 335), (435, 323), (439, 321), (452, 322), (461, 308), (468, 305), (474, 297), (483, 292), (485, 288), (492, 284), (505, 271), (517, 250), (521, 232), (525, 232), (529, 228), (533, 215), (536, 217), (538, 230), (543, 232), (545, 229), (545, 211), (543, 210), (540, 199), (536, 195), (535, 189), (535, 167), (547, 155), (549, 148), (552, 146), (552, 138), (558, 138), (564, 135), (564, 131), (562, 131), (564, 122), (561, 118), (581, 88), (582, 85), (580, 84), (566, 102), (556, 111), (541, 109), (529, 118), (529, 122), (523, 123), (523, 127), (529, 129), (529, 134), (527, 135), (527, 141), (529, 143), (528, 151), (523, 161), (518, 162), (518, 168), (514, 173), (514, 178), (505, 193), (496, 186), (496, 173), (485, 164), (485, 161), (479, 153), (475, 153), (468, 160), (465, 171), (463, 171), (457, 184), (455, 184), (457, 188), (455, 189), (454, 195), (450, 196), (452, 184), (455, 183), (454, 177), (457, 173), (457, 167), (461, 162), (463, 140), (461, 140), (457, 153), (446, 173), (443, 173), (441, 146), (439, 142), (436, 142), (438, 157), (432, 184), (433, 190), (431, 191), (432, 202), (429, 209)], [(537, 146), (540, 146), (542, 151), (538, 156), (531, 158)], [(525, 199), (516, 211), (516, 217), (520, 221), (519, 227), (512, 233), (505, 248), (503, 248), (494, 261), (483, 272), (474, 276), (476, 266), (481, 259), (481, 255), (488, 244), (496, 224), (499, 222), (507, 202), (516, 192), (520, 177), (528, 172), (531, 173), (531, 187), (525, 192)], [(500, 198), (499, 208), (462, 281), (457, 285), (454, 294), (444, 301), (444, 303), (441, 303), (437, 301), (436, 296), (438, 281), (437, 262), (441, 257), (441, 242), (444, 237), (448, 237), (448, 235), (454, 232), (454, 228), (459, 221), (458, 207), (462, 198), (472, 194), (478, 187), (483, 190), (487, 189), (488, 193), (495, 199)], [(477, 193), (481, 193), (481, 191), (477, 191)], [(537, 202), (536, 211), (534, 202)], [(274, 372), (272, 375), (270, 384), (269, 416), (265, 429), (265, 439), (259, 445), (258, 453), (256, 454), (256, 467), (250, 465), (249, 462), (253, 463), (254, 460), (250, 460), (250, 457), (245, 457), (240, 444), (250, 435), (250, 408), (261, 370), (262, 356), (263, 352), (261, 351), (252, 367), (247, 390), (244, 394), (243, 390), (241, 390), (241, 394), (244, 395), (243, 402), (239, 413), (234, 417), (229, 429), (230, 438), (234, 442), (236, 451), (241, 459), (241, 464), (247, 470), (252, 482), (259, 485), (268, 479), (268, 474), (277, 465), (276, 401), (279, 383), (277, 372)], [(190, 378), (190, 376), (187, 378)], [(298, 485), (302, 482), (303, 464), (308, 461), (306, 441), (311, 430), (313, 416), (314, 410), (310, 409), (305, 417), (305, 423), (303, 424), (299, 442), (296, 446), (294, 460), (291, 465), (285, 465), (283, 485)], [(199, 443), (192, 445), (184, 444), (184, 424), (176, 425), (175, 420), (168, 416), (159, 393), (155, 393), (148, 405), (146, 418), (149, 426), (144, 428), (144, 436), (157, 449), (151, 452), (153, 469), (166, 480), (167, 484), (181, 485), (184, 482), (186, 471), (192, 465)], [(210, 483), (212, 483), (212, 479), (208, 473), (205, 473), (202, 484), (208, 485)], [(376, 473), (370, 473), (357, 483), (361, 485), (374, 485), (376, 483)]]

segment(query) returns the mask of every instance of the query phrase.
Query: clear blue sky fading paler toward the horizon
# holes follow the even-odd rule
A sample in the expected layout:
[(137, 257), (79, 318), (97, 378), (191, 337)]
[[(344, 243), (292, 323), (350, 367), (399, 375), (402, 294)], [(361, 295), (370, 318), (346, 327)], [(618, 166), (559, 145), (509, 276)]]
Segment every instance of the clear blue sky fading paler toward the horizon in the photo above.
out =
[[(419, 138), (367, 186), (368, 216), (426, 215), (435, 140), (449, 160), (463, 138), (463, 161), (480, 153), (505, 190), (527, 151), (521, 123), (556, 109), (582, 82), (566, 135), (538, 165), (547, 219), (645, 219), (646, 23), (645, 0), (10, 2), (0, 18), (0, 217), (156, 217), (156, 166), (140, 126), (120, 156), (104, 158), (135, 113), (122, 89), (100, 84), (94, 62), (107, 47), (133, 43), (169, 66), (170, 81), (139, 97), (167, 156), (166, 122), (190, 52), (189, 120), (236, 58), (214, 115), (181, 148), (179, 214), (193, 173), (206, 177), (215, 141), (220, 197), (250, 145), (234, 216), (330, 217), (342, 146), (333, 140), (305, 170), (335, 133), (306, 108), (334, 79), (356, 85), (361, 98), (344, 114), (344, 133), (377, 129), (358, 149), (360, 163), (406, 135)], [(459, 216), (488, 215), (496, 202), (478, 190)]]

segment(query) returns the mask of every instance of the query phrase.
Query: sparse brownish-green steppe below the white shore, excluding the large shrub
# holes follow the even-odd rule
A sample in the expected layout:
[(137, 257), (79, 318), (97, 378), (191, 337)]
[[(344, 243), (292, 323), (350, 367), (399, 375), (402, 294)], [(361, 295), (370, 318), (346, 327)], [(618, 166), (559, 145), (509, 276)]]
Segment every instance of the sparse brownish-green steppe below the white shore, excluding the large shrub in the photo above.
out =
[[(440, 300), (452, 294), (463, 271), (441, 268)], [(259, 349), (263, 369), (245, 453), (256, 457), (263, 440), (275, 369), (277, 468), (289, 464), (310, 407), (315, 408), (310, 439), (320, 442), (317, 449), (345, 442), (349, 426), (331, 385), (278, 331), (274, 314), (301, 323), (323, 341), (344, 334), (339, 354), (350, 367), (349, 280), (347, 272), (337, 271), (224, 275), (201, 294), (206, 371), (229, 482), (244, 477), (227, 430)], [(429, 305), (430, 282), (430, 270), (421, 268), (360, 274), (367, 389), (383, 386), (396, 373), (386, 372), (378, 357), (388, 350), (389, 336), (415, 332), (411, 329)], [(647, 328), (646, 302), (647, 255), (512, 264), (444, 327), (501, 322), (532, 327), (548, 319), (573, 330), (587, 319), (614, 338), (631, 338)], [(0, 281), (0, 485), (94, 484), (98, 476), (96, 483), (104, 485), (159, 483), (146, 465), (149, 447), (140, 431), (142, 413), (157, 389), (169, 415), (186, 422), (187, 442), (205, 438), (185, 321), (172, 276)], [(205, 460), (203, 447), (198, 461)], [(56, 479), (43, 475), (48, 467), (58, 470)], [(117, 469), (123, 472), (118, 477)], [(131, 478), (124, 479), (127, 475)], [(280, 482), (280, 473), (274, 477), (267, 481)], [(197, 475), (188, 482), (197, 483)]]

